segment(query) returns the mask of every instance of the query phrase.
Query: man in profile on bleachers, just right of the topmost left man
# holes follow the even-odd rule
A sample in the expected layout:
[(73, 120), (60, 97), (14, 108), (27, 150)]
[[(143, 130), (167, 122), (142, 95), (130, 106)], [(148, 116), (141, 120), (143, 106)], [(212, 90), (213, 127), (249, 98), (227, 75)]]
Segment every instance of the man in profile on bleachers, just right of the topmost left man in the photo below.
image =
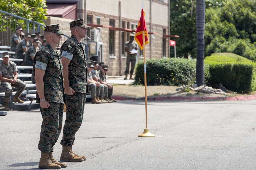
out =
[[(16, 58), (23, 59), (23, 60), (25, 59), (27, 49), (29, 48), (28, 41), (30, 37), (31, 37), (30, 33), (26, 33), (24, 39), (19, 42), (15, 50)], [(25, 51), (24, 51), (24, 48), (26, 49)]]

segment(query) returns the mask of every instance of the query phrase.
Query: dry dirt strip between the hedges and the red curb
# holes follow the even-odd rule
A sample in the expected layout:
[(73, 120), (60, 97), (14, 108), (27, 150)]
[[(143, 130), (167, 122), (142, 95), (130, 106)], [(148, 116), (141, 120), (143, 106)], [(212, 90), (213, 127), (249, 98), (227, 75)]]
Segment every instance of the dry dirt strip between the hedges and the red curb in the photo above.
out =
[[(237, 96), (251, 96), (252, 94), (236, 94), (228, 93), (227, 95), (220, 94), (206, 94), (197, 93), (195, 91), (185, 92), (184, 90), (176, 91), (176, 86), (147, 86), (147, 97), (237, 97)], [(144, 86), (113, 86), (113, 96), (122, 96), (127, 98), (143, 98), (145, 97)]]

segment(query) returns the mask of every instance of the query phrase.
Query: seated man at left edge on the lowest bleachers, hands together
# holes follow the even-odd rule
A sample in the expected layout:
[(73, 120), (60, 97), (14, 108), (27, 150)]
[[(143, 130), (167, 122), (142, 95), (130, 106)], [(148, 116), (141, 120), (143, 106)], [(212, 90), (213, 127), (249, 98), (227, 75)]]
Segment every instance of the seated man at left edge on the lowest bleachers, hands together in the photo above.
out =
[(26, 88), (26, 83), (18, 79), (18, 69), (16, 68), (16, 64), (14, 62), (9, 61), (9, 53), (3, 53), (2, 58), (3, 61), (0, 62), (0, 86), (5, 90), (4, 110), (9, 111), (9, 102), (13, 91), (12, 86), (17, 88), (13, 102), (24, 103), (23, 100), (19, 99), (19, 96)]

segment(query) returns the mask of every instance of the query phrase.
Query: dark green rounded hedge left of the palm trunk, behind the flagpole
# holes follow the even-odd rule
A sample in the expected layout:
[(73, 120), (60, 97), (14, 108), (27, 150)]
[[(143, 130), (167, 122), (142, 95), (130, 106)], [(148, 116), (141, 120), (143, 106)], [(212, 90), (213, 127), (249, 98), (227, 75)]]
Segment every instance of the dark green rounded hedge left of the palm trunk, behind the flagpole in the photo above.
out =
[[(193, 85), (196, 77), (196, 61), (177, 58), (146, 60), (148, 85)], [(144, 84), (144, 62), (136, 65), (135, 83)]]

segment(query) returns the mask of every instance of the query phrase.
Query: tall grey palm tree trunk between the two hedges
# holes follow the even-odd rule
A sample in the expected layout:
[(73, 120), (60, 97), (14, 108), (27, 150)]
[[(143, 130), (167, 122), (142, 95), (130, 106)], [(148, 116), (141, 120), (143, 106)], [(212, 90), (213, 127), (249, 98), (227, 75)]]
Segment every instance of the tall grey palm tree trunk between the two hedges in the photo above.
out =
[(196, 1), (196, 84), (204, 85), (205, 0)]

